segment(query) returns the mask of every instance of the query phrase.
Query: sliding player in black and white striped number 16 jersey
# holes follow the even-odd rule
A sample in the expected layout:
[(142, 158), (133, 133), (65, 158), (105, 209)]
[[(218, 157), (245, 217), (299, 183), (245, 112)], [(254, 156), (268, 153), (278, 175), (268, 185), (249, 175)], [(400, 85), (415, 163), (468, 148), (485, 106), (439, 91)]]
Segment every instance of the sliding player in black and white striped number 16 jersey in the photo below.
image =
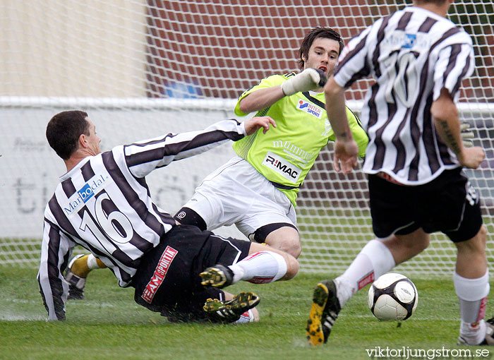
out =
[(152, 170), (174, 160), (270, 126), (275, 121), (268, 116), (241, 124), (226, 120), (203, 131), (168, 133), (100, 152), (88, 114), (56, 114), (47, 139), (67, 172), (44, 212), (37, 276), (49, 319), (65, 319), (68, 284), (62, 274), (76, 245), (110, 268), (121, 287), (134, 287), (138, 304), (173, 320), (237, 320), (258, 304), (258, 296), (232, 296), (220, 288), (239, 280), (294, 277), (299, 265), (287, 253), (176, 225), (153, 203), (145, 181)]

